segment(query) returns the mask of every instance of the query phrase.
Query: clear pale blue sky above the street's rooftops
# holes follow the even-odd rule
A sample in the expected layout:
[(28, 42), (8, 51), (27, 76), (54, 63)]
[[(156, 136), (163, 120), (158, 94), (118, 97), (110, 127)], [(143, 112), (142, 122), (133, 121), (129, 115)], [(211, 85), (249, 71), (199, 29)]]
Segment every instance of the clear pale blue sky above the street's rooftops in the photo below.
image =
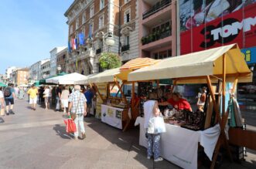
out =
[(0, 73), (9, 66), (30, 66), (67, 46), (63, 15), (73, 0), (1, 0)]

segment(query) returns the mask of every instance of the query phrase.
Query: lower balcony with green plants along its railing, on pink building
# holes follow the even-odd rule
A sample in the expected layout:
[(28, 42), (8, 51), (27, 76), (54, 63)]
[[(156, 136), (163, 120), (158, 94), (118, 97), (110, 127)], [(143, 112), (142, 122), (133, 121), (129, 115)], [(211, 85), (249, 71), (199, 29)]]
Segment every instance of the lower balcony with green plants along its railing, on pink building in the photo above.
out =
[(152, 32), (149, 35), (142, 37), (142, 46), (145, 44), (158, 41), (159, 39), (165, 39), (172, 35), (172, 30), (169, 27), (162, 29), (161, 31)]

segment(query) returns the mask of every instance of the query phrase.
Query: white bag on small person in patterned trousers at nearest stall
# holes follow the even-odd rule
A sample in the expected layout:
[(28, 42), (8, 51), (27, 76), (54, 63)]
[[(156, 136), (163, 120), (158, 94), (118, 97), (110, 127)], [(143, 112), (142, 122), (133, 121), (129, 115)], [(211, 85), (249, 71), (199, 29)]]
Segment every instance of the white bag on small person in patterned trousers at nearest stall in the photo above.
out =
[(166, 132), (166, 124), (162, 117), (152, 117), (148, 122), (148, 134), (161, 134)]

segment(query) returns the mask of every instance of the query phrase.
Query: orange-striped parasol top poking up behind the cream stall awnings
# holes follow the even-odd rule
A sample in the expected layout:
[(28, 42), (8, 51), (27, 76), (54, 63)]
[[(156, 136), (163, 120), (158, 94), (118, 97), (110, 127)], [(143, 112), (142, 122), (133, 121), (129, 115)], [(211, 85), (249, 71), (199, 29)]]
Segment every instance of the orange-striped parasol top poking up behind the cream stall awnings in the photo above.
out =
[(131, 59), (128, 61), (128, 63), (125, 63), (123, 66), (121, 66), (121, 71), (128, 71), (128, 70), (135, 70), (140, 69), (145, 66), (152, 66), (155, 63), (159, 63), (160, 60), (155, 60), (151, 58), (136, 58)]

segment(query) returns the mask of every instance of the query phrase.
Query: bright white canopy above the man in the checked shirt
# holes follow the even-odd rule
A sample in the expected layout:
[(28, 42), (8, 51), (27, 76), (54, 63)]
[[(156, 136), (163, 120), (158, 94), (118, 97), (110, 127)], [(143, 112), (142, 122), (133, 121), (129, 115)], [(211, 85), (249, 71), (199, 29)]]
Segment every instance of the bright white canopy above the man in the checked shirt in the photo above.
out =
[(77, 84), (80, 80), (87, 80), (87, 76), (81, 75), (79, 73), (70, 73), (63, 76), (56, 76), (53, 78), (46, 79), (46, 83), (55, 84)]

